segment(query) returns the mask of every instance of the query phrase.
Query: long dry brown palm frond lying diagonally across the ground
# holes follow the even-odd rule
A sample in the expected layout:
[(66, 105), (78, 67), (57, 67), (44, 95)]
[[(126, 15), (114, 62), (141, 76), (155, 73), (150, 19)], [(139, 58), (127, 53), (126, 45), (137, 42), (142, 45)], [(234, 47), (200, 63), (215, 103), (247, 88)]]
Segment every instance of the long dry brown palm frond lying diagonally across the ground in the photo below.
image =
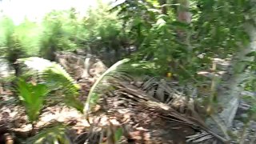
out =
[(134, 105), (141, 107), (142, 110), (146, 110), (147, 113), (154, 114), (158, 118), (163, 118), (167, 122), (176, 122), (180, 126), (187, 126), (194, 131), (198, 131), (199, 134), (187, 137), (188, 142), (202, 142), (210, 138), (218, 139), (221, 142), (226, 141), (224, 138), (218, 136), (218, 134), (214, 134), (214, 132), (208, 129), (206, 124), (200, 119), (179, 113), (177, 110), (160, 102), (158, 99), (148, 97), (144, 91), (139, 90), (135, 86), (128, 85), (126, 82), (120, 82), (118, 80), (112, 80), (111, 84), (116, 87), (114, 93), (118, 95), (120, 99), (133, 102)]

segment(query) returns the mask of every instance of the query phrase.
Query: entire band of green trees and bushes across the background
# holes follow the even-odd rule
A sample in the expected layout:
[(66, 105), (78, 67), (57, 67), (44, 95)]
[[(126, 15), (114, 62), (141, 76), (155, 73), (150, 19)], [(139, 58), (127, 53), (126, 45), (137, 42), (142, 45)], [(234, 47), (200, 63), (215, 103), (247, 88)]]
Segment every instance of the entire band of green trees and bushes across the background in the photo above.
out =
[[(54, 10), (41, 23), (25, 20), (18, 26), (4, 17), (1, 54), (17, 74), (18, 58), (40, 56), (54, 61), (59, 50), (87, 50), (106, 58), (107, 64), (131, 54), (134, 66), (147, 69), (142, 74), (169, 73), (179, 82), (198, 83), (198, 70), (209, 69), (212, 58), (233, 58), (249, 41), (244, 23), (253, 22), (250, 1), (190, 1), (189, 23), (178, 17), (178, 10), (187, 9), (179, 1), (162, 2), (126, 1), (114, 7), (101, 3), (84, 17), (75, 9)], [(136, 51), (130, 53), (130, 47)], [(253, 71), (254, 62), (248, 65)], [(254, 78), (246, 82), (246, 89), (254, 89)]]

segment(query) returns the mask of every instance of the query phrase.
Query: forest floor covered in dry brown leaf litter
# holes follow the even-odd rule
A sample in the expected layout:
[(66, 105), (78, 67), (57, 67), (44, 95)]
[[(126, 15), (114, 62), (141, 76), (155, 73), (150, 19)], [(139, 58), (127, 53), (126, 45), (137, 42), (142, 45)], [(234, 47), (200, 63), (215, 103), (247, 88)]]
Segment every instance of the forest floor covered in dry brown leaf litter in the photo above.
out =
[[(64, 58), (64, 57), (63, 57)], [(72, 59), (72, 58), (71, 58)], [(68, 60), (66, 62), (78, 62), (77, 60)], [(78, 78), (78, 75), (82, 74), (81, 65), (75, 67), (74, 64), (67, 64), (71, 67), (66, 67), (70, 69), (68, 71), (76, 71), (76, 74), (71, 73), (74, 78)], [(90, 87), (93, 85), (95, 80), (98, 78), (98, 74), (101, 74), (104, 71), (102, 64), (96, 64), (93, 66), (94, 75), (88, 76), (88, 78), (83, 81), (78, 81), (81, 90), (81, 101), (86, 101), (86, 96), (90, 90)], [(78, 73), (78, 74), (77, 74)], [(0, 87), (0, 143), (5, 143), (7, 140), (8, 134), (13, 139), (24, 140), (30, 137), (31, 124), (29, 123), (24, 108), (21, 105), (18, 105), (18, 98), (15, 96), (11, 90), (3, 89)], [(128, 107), (130, 105), (127, 105)], [(249, 115), (246, 113), (250, 109), (250, 104), (241, 100), (240, 106), (238, 108), (238, 113), (234, 120), (233, 135), (234, 138), (244, 139), (245, 143), (254, 143), (255, 141), (255, 131), (256, 131), (256, 122), (250, 121), (248, 123), (248, 128), (246, 128), (245, 122), (243, 119), (249, 118)], [(118, 115), (122, 114), (122, 118)], [(113, 117), (106, 114), (98, 114), (98, 116), (90, 117), (88, 119), (84, 118), (83, 114), (79, 113), (78, 110), (73, 108), (62, 106), (58, 103), (54, 103), (51, 106), (46, 106), (40, 114), (38, 122), (36, 122), (35, 129), (42, 130), (53, 123), (62, 122), (66, 126), (70, 126), (70, 129), (67, 131), (70, 139), (74, 143), (85, 143), (86, 138), (90, 131), (90, 125), (98, 121), (99, 127), (106, 128), (107, 126), (124, 126), (123, 123), (130, 123), (131, 126), (129, 129), (129, 134), (126, 134), (126, 140), (123, 140), (122, 143), (189, 143), (186, 142), (184, 136), (181, 136), (179, 133), (186, 131), (187, 134), (190, 134), (190, 130), (183, 130), (181, 126), (175, 123), (166, 122), (164, 118), (155, 118), (150, 113), (144, 113), (143, 111), (127, 111), (126, 109), (119, 110), (119, 114)], [(128, 119), (128, 120), (127, 120)], [(170, 130), (171, 129), (171, 130)], [(97, 131), (97, 130), (96, 130)], [(181, 133), (182, 134), (182, 133)], [(192, 133), (191, 133), (192, 134)], [(173, 135), (174, 137), (171, 137)], [(242, 135), (242, 136), (241, 136)], [(241, 138), (242, 137), (242, 138)], [(4, 139), (2, 139), (4, 138)], [(106, 139), (106, 138), (105, 138)], [(3, 140), (3, 141), (2, 141)], [(104, 138), (103, 138), (104, 140)], [(96, 143), (90, 142), (90, 143)], [(16, 141), (14, 143), (21, 143)], [(235, 142), (234, 143), (238, 143)]]

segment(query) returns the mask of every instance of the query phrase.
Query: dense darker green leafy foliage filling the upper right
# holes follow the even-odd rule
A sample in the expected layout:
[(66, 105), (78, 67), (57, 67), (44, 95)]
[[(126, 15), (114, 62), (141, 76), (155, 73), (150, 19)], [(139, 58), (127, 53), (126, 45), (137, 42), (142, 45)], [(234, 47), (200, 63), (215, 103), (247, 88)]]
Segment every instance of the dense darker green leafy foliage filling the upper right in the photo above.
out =
[[(178, 20), (178, 2), (166, 5), (166, 14), (158, 1), (126, 1), (115, 7), (138, 46), (135, 58), (149, 58), (163, 74), (194, 78), (196, 71), (211, 65), (211, 58), (228, 58), (248, 42), (243, 27), (251, 10), (247, 1), (192, 1), (190, 23)], [(185, 32), (184, 38), (178, 30)]]

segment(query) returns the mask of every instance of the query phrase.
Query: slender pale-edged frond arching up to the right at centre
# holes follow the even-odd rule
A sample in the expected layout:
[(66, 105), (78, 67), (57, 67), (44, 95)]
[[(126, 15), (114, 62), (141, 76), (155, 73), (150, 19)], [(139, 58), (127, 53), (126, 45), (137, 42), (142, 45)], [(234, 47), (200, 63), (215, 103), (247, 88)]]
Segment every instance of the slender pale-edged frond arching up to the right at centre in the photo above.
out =
[(96, 102), (98, 101), (98, 98), (100, 97), (100, 94), (102, 94), (101, 86), (105, 85), (104, 87), (107, 86), (106, 80), (108, 78), (113, 78), (114, 74), (118, 74), (118, 68), (119, 66), (123, 65), (126, 62), (129, 62), (130, 59), (122, 59), (119, 62), (116, 62), (113, 66), (111, 66), (108, 70), (106, 70), (105, 73), (103, 73), (97, 81), (94, 83), (94, 85), (91, 87), (90, 92), (88, 94), (88, 98), (86, 100), (86, 105), (84, 108), (84, 114), (87, 114), (90, 110), (90, 107), (95, 105)]

